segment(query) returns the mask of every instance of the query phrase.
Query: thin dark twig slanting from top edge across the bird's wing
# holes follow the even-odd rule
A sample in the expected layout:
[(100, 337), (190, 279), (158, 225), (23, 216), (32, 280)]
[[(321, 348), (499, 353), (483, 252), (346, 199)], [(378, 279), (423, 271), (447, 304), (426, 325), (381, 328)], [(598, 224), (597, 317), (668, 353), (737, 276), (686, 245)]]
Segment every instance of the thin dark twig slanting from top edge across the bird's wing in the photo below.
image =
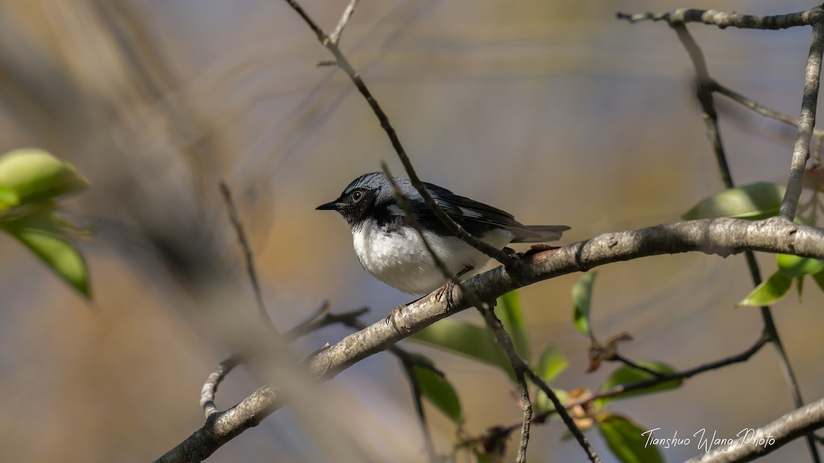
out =
[(323, 46), (326, 47), (330, 51), (332, 55), (335, 56), (335, 61), (338, 64), (339, 68), (343, 69), (346, 72), (346, 75), (349, 76), (349, 79), (352, 80), (355, 87), (358, 88), (363, 98), (366, 99), (370, 108), (372, 108), (372, 112), (375, 113), (377, 116), (378, 121), (381, 123), (382, 129), (386, 132), (386, 135), (389, 137), (389, 141), (392, 144), (392, 147), (395, 149), (398, 157), (400, 158), (400, 162), (403, 164), (406, 174), (409, 175), (410, 181), (412, 185), (418, 190), (418, 193), (424, 199), (424, 203), (426, 203), (427, 207), (432, 209), (433, 214), (435, 217), (443, 223), (447, 230), (451, 232), (453, 235), (457, 236), (461, 240), (465, 241), (470, 246), (474, 247), (476, 250), (480, 250), (485, 255), (488, 255), (490, 258), (499, 261), (501, 264), (504, 264), (509, 267), (513, 267), (517, 265), (517, 260), (514, 259), (512, 256), (503, 252), (503, 250), (499, 250), (494, 246), (490, 246), (489, 244), (479, 241), (472, 236), (470, 233), (466, 232), (460, 225), (458, 225), (452, 217), (449, 217), (447, 213), (443, 211), (443, 209), (435, 202), (432, 195), (429, 194), (428, 190), (424, 187), (424, 184), (418, 177), (418, 174), (415, 173), (414, 167), (412, 166), (412, 162), (410, 161), (409, 156), (406, 155), (406, 151), (403, 145), (400, 143), (400, 138), (395, 131), (395, 128), (389, 122), (389, 118), (386, 116), (386, 113), (383, 111), (381, 105), (378, 105), (377, 101), (375, 100), (374, 96), (372, 96), (372, 92), (366, 87), (366, 84), (363, 83), (363, 79), (360, 77), (357, 71), (352, 67), (352, 64), (349, 63), (349, 60), (341, 53), (338, 45), (330, 40), (330, 37), (326, 35), (326, 33), (321, 29), (317, 23), (311, 19), (311, 17), (307, 14), (307, 12), (297, 3), (296, 0), (286, 0), (288, 4), (293, 7), (295, 12), (303, 18), (303, 21), (306, 21), (307, 25), (310, 27), (311, 30), (315, 32), (317, 35), (317, 39), (321, 42)]

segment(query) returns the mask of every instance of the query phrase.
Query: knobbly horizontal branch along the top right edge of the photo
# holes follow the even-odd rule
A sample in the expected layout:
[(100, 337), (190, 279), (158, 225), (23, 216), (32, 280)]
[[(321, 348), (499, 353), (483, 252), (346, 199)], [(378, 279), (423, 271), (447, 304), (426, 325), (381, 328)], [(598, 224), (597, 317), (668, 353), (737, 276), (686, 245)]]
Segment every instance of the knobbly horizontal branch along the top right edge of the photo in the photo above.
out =
[(678, 8), (673, 12), (667, 13), (639, 13), (630, 15), (618, 12), (616, 16), (618, 19), (623, 19), (630, 23), (639, 21), (667, 21), (670, 24), (677, 22), (701, 22), (709, 26), (719, 26), (722, 29), (732, 26), (742, 29), (776, 30), (796, 26), (810, 26), (819, 21), (822, 14), (824, 14), (822, 7), (813, 7), (806, 12), (777, 16), (750, 16), (736, 12)]

